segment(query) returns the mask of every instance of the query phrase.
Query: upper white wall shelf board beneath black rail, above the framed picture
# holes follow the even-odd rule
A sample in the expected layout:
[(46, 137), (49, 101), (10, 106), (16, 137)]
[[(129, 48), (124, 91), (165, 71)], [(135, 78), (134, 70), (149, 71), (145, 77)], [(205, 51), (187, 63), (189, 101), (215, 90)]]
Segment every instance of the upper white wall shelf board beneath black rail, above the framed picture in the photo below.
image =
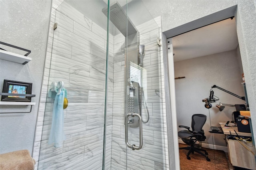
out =
[(31, 61), (32, 58), (0, 49), (0, 59), (12, 61), (12, 62), (20, 63), (24, 65), (29, 61)]

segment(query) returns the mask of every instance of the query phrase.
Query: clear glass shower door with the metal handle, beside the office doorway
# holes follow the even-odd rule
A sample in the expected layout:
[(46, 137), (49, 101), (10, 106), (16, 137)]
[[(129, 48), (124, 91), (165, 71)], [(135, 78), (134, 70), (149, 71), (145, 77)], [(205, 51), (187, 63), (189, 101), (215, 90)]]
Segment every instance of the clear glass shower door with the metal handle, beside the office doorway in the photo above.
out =
[[(140, 0), (110, 3), (114, 29), (112, 169), (169, 169), (161, 18)], [(126, 26), (124, 28), (124, 25)]]

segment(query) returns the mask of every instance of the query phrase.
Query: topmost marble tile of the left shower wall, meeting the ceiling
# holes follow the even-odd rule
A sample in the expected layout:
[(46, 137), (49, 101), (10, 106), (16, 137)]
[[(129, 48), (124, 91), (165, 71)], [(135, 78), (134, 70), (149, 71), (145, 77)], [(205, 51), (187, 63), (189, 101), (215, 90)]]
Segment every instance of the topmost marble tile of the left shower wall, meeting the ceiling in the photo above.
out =
[(88, 30), (92, 30), (92, 21), (84, 16), (81, 12), (70, 6), (67, 2), (63, 2), (60, 8), (57, 9), (72, 20), (80, 23)]

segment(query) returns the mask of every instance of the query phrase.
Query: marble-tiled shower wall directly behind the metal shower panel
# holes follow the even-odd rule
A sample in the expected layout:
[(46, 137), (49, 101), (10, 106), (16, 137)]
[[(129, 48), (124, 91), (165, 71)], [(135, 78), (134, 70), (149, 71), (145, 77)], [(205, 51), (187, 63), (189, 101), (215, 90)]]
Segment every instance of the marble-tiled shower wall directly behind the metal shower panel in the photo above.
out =
[[(137, 27), (140, 44), (145, 45), (144, 68), (147, 70), (147, 93), (150, 119), (143, 123), (143, 147), (131, 150), (125, 144), (124, 130), (124, 43), (122, 34), (114, 36), (114, 92), (113, 92), (113, 130), (112, 130), (112, 169), (154, 170), (169, 169), (166, 107), (164, 95), (164, 74), (162, 47), (156, 40), (162, 38), (161, 18), (155, 18)], [(146, 108), (142, 119), (146, 120)], [(130, 144), (139, 143), (138, 128), (128, 129)]]

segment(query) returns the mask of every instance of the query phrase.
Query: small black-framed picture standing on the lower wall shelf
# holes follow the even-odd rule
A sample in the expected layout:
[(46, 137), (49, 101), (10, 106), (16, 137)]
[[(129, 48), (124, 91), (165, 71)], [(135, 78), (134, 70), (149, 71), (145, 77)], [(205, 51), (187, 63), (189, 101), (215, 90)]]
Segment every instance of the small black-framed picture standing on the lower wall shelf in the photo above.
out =
[(31, 97), (24, 96), (24, 95), (27, 95), (27, 94), (31, 95), (32, 83), (13, 81), (13, 80), (4, 80), (3, 93), (9, 93), (9, 94), (2, 95), (1, 101), (31, 102)]

